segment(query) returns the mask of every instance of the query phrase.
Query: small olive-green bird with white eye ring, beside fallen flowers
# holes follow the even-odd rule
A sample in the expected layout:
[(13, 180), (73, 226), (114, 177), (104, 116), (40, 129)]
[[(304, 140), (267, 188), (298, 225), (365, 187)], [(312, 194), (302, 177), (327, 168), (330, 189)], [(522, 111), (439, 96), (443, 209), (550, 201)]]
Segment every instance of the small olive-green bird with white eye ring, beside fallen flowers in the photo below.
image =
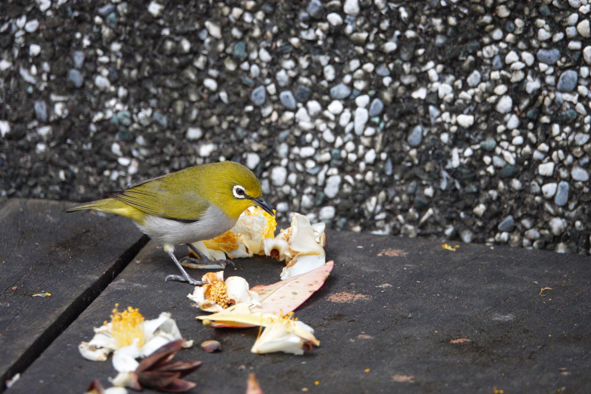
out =
[(93, 209), (115, 213), (133, 220), (142, 232), (163, 246), (182, 275), (168, 275), (166, 281), (202, 285), (183, 269), (174, 256), (174, 246), (187, 244), (200, 257), (201, 265), (212, 262), (191, 242), (212, 239), (231, 229), (240, 214), (258, 205), (274, 215), (262, 198), (261, 183), (251, 170), (232, 161), (196, 165), (171, 174), (136, 183), (123, 191), (107, 193), (108, 198), (74, 206), (66, 212)]

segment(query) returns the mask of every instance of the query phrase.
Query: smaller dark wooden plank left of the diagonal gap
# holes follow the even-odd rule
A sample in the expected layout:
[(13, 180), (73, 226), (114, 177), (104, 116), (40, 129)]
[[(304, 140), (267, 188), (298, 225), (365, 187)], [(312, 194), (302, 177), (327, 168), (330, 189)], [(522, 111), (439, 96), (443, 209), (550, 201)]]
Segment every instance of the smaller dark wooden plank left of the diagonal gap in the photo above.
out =
[[(71, 205), (0, 201), (2, 382), (29, 366), (145, 245), (126, 219), (64, 213)], [(43, 292), (51, 297), (32, 297)]]

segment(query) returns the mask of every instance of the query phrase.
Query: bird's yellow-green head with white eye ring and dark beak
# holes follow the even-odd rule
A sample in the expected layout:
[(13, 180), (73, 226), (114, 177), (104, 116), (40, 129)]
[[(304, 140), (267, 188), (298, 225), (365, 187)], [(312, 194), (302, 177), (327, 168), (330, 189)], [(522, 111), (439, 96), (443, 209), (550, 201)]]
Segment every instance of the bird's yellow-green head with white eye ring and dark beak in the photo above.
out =
[(275, 216), (271, 206), (262, 198), (261, 183), (251, 170), (232, 161), (216, 164), (219, 166), (217, 176), (221, 184), (216, 202), (230, 218), (238, 219), (244, 210), (252, 206), (259, 206)]

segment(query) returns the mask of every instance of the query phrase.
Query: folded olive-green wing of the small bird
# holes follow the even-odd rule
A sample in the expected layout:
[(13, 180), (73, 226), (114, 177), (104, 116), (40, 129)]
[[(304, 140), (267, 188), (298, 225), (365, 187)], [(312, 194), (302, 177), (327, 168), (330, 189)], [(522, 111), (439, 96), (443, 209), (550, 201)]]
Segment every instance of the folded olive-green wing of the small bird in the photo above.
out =
[(108, 196), (155, 216), (178, 222), (196, 222), (210, 203), (197, 196), (194, 190), (183, 187), (184, 183), (170, 182), (175, 175), (173, 172), (152, 178), (131, 185), (128, 189), (109, 193)]

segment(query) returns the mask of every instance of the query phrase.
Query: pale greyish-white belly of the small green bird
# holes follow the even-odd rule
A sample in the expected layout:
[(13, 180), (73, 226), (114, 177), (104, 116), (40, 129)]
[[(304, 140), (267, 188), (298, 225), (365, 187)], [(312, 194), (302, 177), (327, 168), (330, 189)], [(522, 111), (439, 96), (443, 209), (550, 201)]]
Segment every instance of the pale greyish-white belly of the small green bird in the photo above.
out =
[(194, 223), (147, 215), (138, 227), (161, 245), (174, 246), (215, 238), (231, 229), (234, 224), (236, 220), (230, 219), (219, 208), (210, 206)]

